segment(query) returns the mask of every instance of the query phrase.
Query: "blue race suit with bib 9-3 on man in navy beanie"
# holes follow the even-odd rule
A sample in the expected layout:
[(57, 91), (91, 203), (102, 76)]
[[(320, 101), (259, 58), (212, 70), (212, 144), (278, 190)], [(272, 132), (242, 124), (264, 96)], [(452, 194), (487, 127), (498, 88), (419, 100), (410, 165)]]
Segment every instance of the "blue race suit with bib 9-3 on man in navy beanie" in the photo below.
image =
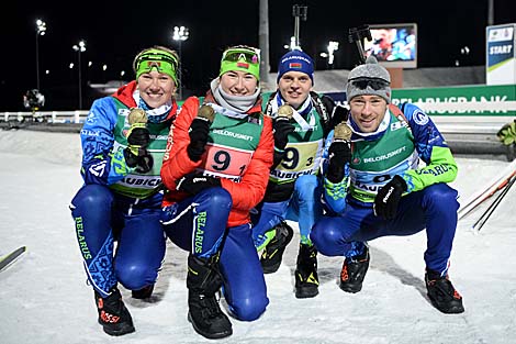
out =
[[(323, 214), (319, 171), (324, 142), (330, 127), (328, 113), (333, 110), (327, 104), (334, 106), (328, 97), (325, 103), (321, 99), (319, 95), (310, 93), (310, 107), (300, 113), (307, 125), (292, 122), (294, 132), (289, 134), (284, 157), (271, 169), (263, 201), (251, 217), (253, 238), (258, 251), (273, 237), (271, 230), (284, 220), (296, 221), (301, 243), (312, 245), (312, 225)], [(271, 107), (271, 102), (277, 107)], [(272, 93), (266, 113), (274, 118), (277, 114), (271, 109), (283, 103), (280, 92)]]

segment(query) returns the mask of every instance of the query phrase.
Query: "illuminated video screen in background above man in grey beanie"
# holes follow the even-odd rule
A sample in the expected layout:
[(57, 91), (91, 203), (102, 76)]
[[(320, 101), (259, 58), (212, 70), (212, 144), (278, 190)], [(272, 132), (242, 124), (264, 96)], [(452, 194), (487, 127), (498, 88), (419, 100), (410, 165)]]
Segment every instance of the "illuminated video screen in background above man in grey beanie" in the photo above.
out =
[(385, 68), (417, 67), (417, 24), (369, 25), (372, 41), (364, 40), (366, 55), (374, 55)]

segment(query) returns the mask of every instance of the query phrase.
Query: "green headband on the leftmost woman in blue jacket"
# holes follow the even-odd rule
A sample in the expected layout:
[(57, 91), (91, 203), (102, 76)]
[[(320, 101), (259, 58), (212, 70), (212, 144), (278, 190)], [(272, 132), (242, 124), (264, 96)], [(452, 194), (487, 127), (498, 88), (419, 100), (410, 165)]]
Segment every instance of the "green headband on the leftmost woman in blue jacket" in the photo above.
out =
[(144, 73), (150, 73), (150, 70), (156, 69), (159, 73), (164, 73), (170, 76), (178, 85), (178, 59), (170, 53), (160, 51), (160, 49), (149, 49), (139, 55), (134, 65), (134, 70), (136, 73), (136, 79)]

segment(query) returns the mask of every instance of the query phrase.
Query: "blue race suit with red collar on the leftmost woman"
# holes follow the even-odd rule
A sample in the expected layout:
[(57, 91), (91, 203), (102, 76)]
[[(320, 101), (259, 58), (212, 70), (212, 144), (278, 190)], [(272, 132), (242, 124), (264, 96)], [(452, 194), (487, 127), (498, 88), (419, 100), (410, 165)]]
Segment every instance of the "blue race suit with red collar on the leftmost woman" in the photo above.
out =
[(70, 209), (88, 279), (102, 297), (117, 282), (131, 290), (153, 285), (165, 256), (159, 170), (177, 106), (168, 120), (147, 123), (154, 166), (141, 173), (123, 154), (134, 89), (133, 81), (96, 100), (80, 132), (85, 184)]

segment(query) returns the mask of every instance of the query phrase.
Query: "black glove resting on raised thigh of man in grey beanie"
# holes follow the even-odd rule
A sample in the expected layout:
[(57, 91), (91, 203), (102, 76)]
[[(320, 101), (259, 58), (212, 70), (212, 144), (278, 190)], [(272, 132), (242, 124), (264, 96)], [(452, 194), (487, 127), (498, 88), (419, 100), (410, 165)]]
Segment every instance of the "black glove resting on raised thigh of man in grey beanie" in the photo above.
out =
[(405, 180), (397, 175), (394, 176), (391, 181), (378, 191), (374, 198), (374, 214), (385, 220), (394, 219), (397, 212), (397, 204), (404, 191), (406, 191)]

